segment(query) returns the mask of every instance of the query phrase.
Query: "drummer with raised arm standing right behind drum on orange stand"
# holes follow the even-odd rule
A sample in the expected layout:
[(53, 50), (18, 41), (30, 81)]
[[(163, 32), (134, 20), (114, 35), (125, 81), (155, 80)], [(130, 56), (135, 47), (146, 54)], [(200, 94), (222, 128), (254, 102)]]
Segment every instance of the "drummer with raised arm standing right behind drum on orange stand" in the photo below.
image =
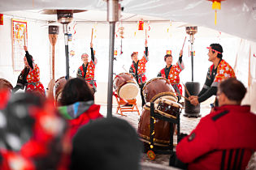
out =
[(139, 84), (141, 88), (141, 100), (142, 100), (142, 108), (145, 104), (145, 99), (143, 96), (143, 87), (146, 82), (146, 77), (145, 77), (145, 63), (149, 61), (148, 57), (148, 40), (145, 39), (145, 54), (141, 58), (141, 60), (138, 60), (138, 54), (137, 53), (132, 53), (132, 66), (130, 67), (129, 73), (132, 74), (132, 76), (136, 79), (137, 83)]

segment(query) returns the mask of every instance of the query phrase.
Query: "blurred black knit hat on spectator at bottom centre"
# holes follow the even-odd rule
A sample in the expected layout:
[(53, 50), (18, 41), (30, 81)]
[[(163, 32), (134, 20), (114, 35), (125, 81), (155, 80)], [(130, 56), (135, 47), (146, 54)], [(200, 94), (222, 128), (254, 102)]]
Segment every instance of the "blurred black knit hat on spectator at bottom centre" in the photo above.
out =
[(137, 170), (142, 145), (127, 121), (102, 118), (78, 130), (72, 141), (71, 169)]

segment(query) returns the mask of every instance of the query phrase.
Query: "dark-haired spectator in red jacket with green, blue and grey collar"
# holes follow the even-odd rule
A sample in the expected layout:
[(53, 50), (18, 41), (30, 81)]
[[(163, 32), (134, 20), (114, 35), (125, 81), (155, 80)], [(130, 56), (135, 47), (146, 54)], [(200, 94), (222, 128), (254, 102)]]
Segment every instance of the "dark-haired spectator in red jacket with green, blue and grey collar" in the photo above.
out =
[(60, 100), (59, 113), (68, 121), (71, 137), (81, 125), (101, 118), (100, 105), (94, 104), (93, 91), (80, 78), (69, 79), (65, 84)]

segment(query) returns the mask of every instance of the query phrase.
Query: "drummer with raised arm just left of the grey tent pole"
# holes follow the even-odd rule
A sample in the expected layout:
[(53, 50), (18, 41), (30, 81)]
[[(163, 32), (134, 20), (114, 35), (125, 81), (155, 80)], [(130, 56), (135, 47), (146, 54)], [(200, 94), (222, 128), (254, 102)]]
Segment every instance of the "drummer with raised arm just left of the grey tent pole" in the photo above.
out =
[(96, 92), (97, 83), (94, 80), (94, 72), (95, 65), (97, 64), (97, 59), (94, 57), (93, 53), (93, 43), (90, 43), (91, 49), (91, 61), (88, 61), (89, 55), (87, 53), (83, 53), (81, 59), (83, 61), (83, 65), (80, 66), (77, 70), (76, 77), (83, 78), (87, 83), (89, 83), (90, 87), (93, 88), (93, 91)]

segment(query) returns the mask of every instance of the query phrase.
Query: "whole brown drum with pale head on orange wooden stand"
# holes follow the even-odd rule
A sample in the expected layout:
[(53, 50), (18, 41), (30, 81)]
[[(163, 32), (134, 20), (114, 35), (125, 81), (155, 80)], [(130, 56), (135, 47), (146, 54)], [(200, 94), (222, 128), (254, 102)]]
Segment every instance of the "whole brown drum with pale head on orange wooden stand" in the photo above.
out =
[(114, 90), (120, 98), (132, 100), (136, 98), (139, 87), (132, 74), (120, 73), (115, 76)]

